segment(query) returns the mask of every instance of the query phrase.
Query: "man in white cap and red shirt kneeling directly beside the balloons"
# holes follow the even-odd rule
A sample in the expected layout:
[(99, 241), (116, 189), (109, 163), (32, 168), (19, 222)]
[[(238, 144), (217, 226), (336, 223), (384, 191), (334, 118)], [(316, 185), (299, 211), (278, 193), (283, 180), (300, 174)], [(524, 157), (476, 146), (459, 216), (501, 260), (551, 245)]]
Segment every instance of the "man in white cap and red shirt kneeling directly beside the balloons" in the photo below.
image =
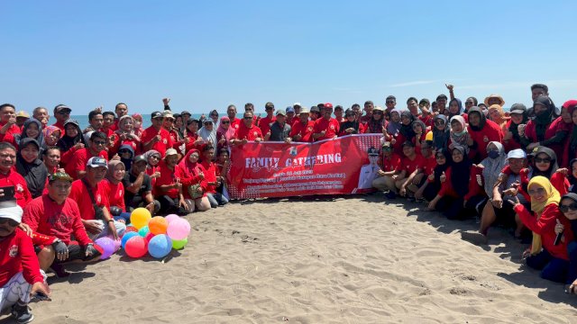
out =
[(87, 162), (86, 176), (72, 183), (69, 197), (78, 203), (82, 224), (90, 238), (103, 238), (112, 235), (114, 239), (122, 237), (126, 225), (116, 221), (110, 214), (110, 202), (105, 191), (105, 178), (108, 164), (102, 157), (90, 157)]

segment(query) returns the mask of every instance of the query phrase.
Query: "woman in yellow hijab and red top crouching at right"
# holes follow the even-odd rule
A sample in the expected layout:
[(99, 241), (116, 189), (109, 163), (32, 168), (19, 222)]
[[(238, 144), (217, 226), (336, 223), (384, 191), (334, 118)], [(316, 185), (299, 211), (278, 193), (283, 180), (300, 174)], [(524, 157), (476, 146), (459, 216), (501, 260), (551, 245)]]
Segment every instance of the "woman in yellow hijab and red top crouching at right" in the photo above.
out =
[(528, 185), (531, 196), (531, 211), (513, 196), (514, 210), (528, 229), (533, 231), (530, 249), (525, 251), (527, 266), (541, 270), (541, 277), (557, 283), (565, 283), (569, 269), (567, 244), (573, 240), (572, 231), (567, 230), (565, 239), (555, 245), (555, 224), (561, 222), (565, 229), (571, 223), (559, 210), (561, 196), (545, 176), (537, 175)]

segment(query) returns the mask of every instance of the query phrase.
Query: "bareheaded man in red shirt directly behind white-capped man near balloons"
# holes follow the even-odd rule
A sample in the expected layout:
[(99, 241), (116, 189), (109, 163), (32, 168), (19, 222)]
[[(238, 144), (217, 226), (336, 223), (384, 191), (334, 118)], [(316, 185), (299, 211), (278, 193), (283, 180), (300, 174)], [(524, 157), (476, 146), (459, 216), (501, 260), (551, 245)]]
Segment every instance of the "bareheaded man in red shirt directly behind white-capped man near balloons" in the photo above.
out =
[(104, 157), (108, 160), (105, 151), (106, 135), (102, 131), (95, 131), (90, 135), (90, 143), (87, 148), (80, 148), (70, 157), (69, 163), (64, 168), (66, 173), (74, 179), (82, 179), (86, 175), (87, 161), (90, 157)]

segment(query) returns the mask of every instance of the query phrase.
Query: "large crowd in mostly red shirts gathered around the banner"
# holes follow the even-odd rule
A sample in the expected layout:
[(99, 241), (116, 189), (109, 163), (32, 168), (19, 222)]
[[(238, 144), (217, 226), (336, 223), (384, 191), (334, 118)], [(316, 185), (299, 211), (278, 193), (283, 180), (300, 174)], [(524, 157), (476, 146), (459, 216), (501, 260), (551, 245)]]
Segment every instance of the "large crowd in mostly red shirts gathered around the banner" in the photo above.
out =
[[(381, 137), (380, 170), (372, 186), (386, 199), (404, 197), (450, 220), (478, 217), (480, 229), (463, 239), (486, 244), (493, 224), (531, 241), (527, 265), (577, 293), (577, 100), (558, 108), (546, 85), (532, 85), (533, 104), (490, 94), (483, 103), (440, 94), (434, 102), (409, 97), (398, 107), (367, 101), (361, 109), (318, 103), (264, 106), (242, 118), (164, 109), (88, 114), (82, 130), (69, 106), (16, 112), (0, 105), (0, 307), (19, 322), (32, 320), (31, 293), (47, 298), (45, 273), (66, 276), (69, 262), (98, 259), (96, 238), (120, 238), (130, 212), (152, 215), (207, 211), (229, 200), (226, 172), (231, 149), (248, 141), (315, 142), (352, 134)], [(232, 157), (234, 158), (234, 157)], [(43, 296), (43, 297), (42, 297)]]

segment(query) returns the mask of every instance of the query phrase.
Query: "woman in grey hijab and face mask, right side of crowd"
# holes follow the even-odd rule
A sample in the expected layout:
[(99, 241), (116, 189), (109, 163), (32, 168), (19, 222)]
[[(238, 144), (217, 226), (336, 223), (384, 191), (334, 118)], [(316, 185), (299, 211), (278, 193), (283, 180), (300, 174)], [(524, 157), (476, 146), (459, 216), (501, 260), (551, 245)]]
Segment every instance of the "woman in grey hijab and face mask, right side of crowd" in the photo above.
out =
[(480, 185), (484, 184), (485, 193), (489, 199), (492, 199), (493, 187), (499, 180), (499, 174), (503, 167), (508, 165), (507, 154), (503, 144), (498, 141), (489, 142), (489, 145), (487, 145), (487, 157), (479, 165), (482, 166), (482, 182), (479, 183), (480, 179), (477, 179), (477, 182)]

